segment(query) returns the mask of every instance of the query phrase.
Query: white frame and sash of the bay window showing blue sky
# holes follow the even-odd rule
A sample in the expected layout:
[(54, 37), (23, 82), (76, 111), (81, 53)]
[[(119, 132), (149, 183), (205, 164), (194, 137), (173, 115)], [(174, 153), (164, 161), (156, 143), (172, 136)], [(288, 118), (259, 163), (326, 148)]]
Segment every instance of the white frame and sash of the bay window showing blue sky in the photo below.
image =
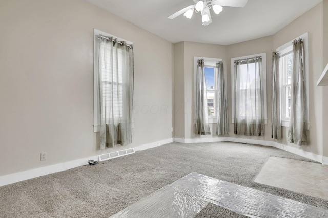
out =
[[(204, 59), (204, 67), (214, 68), (214, 83), (216, 83), (217, 77), (215, 76), (216, 62), (222, 61), (222, 58), (206, 58), (206, 57), (194, 57), (194, 111), (196, 111), (196, 77), (197, 77), (197, 61), (199, 59)], [(214, 84), (215, 85), (215, 84)], [(214, 98), (216, 99), (217, 91), (214, 86)], [(207, 103), (207, 101), (206, 101)], [(208, 116), (209, 124), (217, 123), (217, 107), (214, 105), (215, 116)], [(196, 113), (194, 113), (194, 123), (196, 123)]]

